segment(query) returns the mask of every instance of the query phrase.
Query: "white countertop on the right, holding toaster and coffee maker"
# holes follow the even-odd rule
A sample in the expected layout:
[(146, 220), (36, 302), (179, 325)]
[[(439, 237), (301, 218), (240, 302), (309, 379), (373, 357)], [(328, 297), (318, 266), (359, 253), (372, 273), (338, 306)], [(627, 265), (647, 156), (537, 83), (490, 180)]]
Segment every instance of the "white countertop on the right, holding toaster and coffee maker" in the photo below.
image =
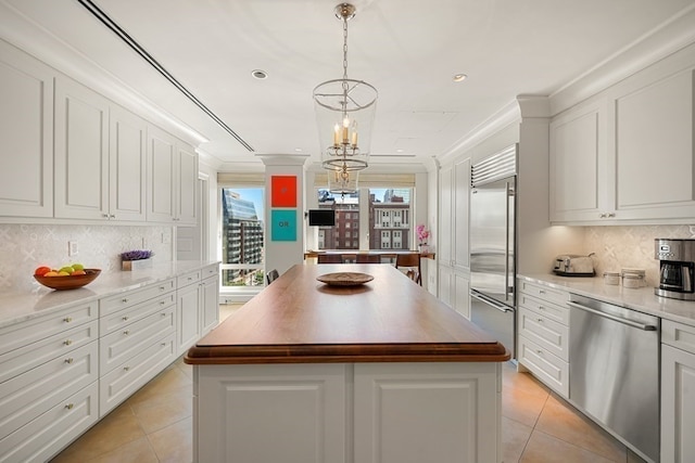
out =
[(609, 285), (605, 284), (601, 276), (572, 278), (546, 273), (520, 274), (518, 278), (695, 326), (695, 300), (659, 297), (654, 294), (653, 286), (629, 288), (622, 285)]

